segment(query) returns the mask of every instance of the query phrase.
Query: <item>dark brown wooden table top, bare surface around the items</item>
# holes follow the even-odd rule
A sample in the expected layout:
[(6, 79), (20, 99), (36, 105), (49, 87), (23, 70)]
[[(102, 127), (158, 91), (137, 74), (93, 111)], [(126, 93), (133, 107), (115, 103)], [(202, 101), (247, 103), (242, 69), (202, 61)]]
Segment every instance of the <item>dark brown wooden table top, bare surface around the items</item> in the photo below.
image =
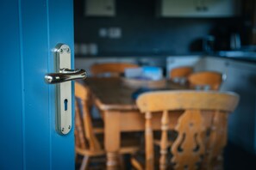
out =
[[(153, 90), (187, 89), (169, 80), (165, 87)], [(162, 81), (160, 81), (162, 83)], [(88, 77), (84, 84), (90, 88), (96, 106), (101, 110), (134, 110), (138, 109), (133, 94), (139, 87), (127, 83), (120, 77)]]

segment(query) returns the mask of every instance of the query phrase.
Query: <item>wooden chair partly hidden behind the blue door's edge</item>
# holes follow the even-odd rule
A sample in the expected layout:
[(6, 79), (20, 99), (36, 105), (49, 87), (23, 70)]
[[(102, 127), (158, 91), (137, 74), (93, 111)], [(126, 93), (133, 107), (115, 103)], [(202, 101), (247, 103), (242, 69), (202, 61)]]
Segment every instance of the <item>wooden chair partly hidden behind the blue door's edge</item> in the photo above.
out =
[[(75, 116), (75, 142), (76, 155), (84, 156), (80, 169), (88, 167), (91, 157), (105, 155), (103, 147), (103, 127), (95, 127), (90, 112), (89, 89), (75, 82), (76, 116)], [(98, 136), (97, 136), (98, 135)], [(101, 138), (100, 138), (101, 137)], [(134, 154), (140, 149), (140, 141), (123, 140), (125, 146), (120, 154)], [(122, 143), (122, 145), (124, 145)]]

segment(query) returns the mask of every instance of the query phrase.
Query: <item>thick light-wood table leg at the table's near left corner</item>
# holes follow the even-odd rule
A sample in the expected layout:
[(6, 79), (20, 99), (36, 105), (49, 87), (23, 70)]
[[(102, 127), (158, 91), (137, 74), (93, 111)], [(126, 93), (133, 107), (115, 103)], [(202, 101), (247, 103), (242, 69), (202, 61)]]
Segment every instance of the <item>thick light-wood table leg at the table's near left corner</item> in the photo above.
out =
[(120, 112), (104, 112), (104, 143), (107, 152), (107, 169), (119, 169)]

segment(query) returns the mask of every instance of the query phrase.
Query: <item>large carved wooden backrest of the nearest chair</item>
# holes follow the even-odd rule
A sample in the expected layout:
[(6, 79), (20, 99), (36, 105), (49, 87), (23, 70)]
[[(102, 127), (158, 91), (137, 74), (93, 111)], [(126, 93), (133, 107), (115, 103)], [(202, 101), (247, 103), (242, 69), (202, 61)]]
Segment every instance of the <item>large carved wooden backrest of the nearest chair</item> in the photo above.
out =
[[(174, 169), (211, 166), (227, 142), (228, 112), (239, 101), (234, 93), (215, 91), (161, 91), (141, 94), (136, 100), (146, 118), (146, 169), (153, 167), (152, 117), (162, 112), (159, 169), (166, 169), (169, 114), (182, 112), (175, 125), (178, 137), (171, 146)], [(202, 161), (203, 156), (203, 161)]]

